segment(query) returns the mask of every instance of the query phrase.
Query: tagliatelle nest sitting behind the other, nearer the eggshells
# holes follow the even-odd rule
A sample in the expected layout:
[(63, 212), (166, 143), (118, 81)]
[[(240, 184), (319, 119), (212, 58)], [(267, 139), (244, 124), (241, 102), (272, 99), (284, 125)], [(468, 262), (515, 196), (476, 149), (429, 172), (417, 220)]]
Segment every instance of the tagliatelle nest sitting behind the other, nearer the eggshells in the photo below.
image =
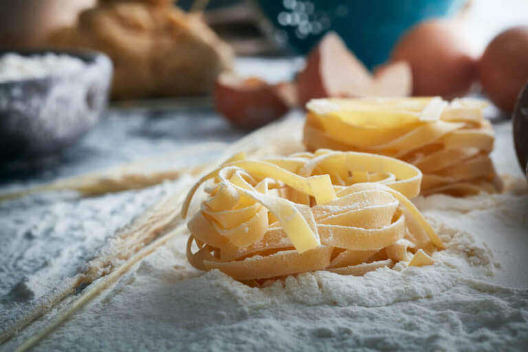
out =
[(497, 192), (485, 106), (439, 97), (316, 99), (307, 104), (304, 142), (310, 151), (363, 151), (414, 164), (423, 173), (423, 195)]

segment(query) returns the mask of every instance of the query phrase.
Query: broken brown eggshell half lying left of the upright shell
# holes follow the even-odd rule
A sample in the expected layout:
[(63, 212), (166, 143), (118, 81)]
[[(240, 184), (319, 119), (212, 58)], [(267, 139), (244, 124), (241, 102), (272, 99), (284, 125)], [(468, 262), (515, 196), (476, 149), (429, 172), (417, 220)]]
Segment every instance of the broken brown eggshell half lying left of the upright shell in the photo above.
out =
[(217, 111), (240, 129), (256, 129), (289, 110), (283, 91), (257, 77), (221, 74), (214, 86)]

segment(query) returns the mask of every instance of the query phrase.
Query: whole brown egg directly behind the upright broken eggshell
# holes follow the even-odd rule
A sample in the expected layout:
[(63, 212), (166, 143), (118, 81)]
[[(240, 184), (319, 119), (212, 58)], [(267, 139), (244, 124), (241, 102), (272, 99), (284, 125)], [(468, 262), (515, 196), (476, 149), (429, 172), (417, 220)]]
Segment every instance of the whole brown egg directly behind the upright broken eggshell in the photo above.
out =
[(434, 19), (419, 23), (399, 39), (391, 61), (407, 61), (412, 69), (412, 95), (454, 98), (469, 91), (477, 76), (458, 20)]

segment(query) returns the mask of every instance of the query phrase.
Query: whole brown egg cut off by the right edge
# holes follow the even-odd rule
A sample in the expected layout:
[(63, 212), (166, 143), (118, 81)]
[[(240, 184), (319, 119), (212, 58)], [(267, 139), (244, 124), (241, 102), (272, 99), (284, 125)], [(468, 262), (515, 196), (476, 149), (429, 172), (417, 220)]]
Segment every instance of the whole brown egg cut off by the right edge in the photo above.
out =
[(486, 47), (478, 67), (482, 87), (500, 109), (511, 112), (528, 80), (528, 26), (498, 34)]

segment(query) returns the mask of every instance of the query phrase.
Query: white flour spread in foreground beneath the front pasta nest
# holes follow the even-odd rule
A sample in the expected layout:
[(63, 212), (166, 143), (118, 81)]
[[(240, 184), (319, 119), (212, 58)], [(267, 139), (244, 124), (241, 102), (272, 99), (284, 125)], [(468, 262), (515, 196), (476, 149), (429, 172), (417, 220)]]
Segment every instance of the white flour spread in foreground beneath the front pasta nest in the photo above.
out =
[[(498, 131), (505, 135), (505, 131)], [(509, 155), (502, 138), (495, 155)], [(415, 203), (446, 243), (434, 265), (363, 277), (314, 272), (251, 288), (159, 248), (41, 341), (36, 351), (496, 351), (528, 344), (528, 193)], [(486, 244), (487, 243), (487, 244)], [(30, 327), (5, 345), (17, 346)]]

